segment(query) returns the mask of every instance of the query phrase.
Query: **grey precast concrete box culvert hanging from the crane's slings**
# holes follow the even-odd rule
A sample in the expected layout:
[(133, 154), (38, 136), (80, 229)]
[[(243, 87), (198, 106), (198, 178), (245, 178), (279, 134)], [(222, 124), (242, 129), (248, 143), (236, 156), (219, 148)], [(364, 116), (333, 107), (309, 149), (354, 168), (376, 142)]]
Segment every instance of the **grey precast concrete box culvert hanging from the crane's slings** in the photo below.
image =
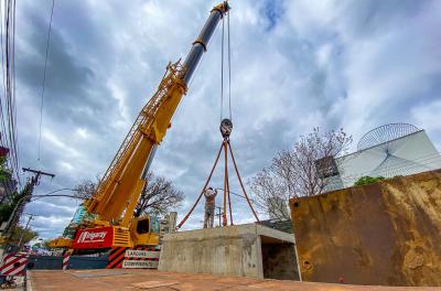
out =
[(158, 269), (299, 280), (292, 234), (257, 224), (166, 234)]

